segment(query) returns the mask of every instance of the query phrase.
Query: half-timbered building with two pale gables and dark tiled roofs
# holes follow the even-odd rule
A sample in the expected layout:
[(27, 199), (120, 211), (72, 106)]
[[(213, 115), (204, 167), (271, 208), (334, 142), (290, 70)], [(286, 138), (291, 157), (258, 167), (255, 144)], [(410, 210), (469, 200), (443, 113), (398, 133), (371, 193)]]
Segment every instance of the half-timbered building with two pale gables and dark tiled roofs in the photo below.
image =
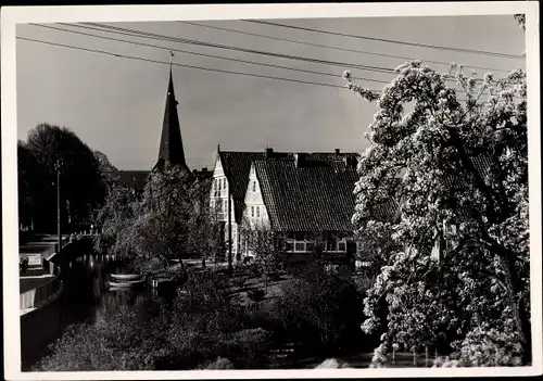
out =
[(351, 217), (359, 178), (357, 157), (339, 150), (291, 153), (270, 148), (263, 152), (219, 148), (211, 203), (225, 224), (232, 257), (253, 254), (243, 237), (248, 225), (281, 236), (287, 253), (311, 253), (319, 241), (326, 242), (326, 253), (354, 254)]

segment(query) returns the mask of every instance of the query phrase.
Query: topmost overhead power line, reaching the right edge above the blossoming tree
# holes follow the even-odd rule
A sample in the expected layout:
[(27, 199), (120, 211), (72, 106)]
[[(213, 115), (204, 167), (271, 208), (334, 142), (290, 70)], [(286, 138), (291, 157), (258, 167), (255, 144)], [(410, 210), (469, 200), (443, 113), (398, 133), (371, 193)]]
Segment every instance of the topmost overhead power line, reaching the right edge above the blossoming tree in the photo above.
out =
[(319, 34), (332, 35), (332, 36), (341, 36), (341, 37), (350, 37), (350, 38), (357, 38), (357, 39), (364, 39), (364, 40), (370, 40), (370, 41), (379, 41), (379, 42), (388, 42), (388, 43), (399, 43), (399, 45), (405, 45), (405, 46), (411, 46), (411, 47), (420, 47), (420, 48), (429, 48), (429, 49), (438, 49), (438, 50), (447, 50), (447, 51), (456, 51), (456, 52), (472, 53), (472, 54), (482, 54), (482, 55), (492, 55), (492, 56), (500, 56), (500, 58), (504, 58), (504, 59), (523, 59), (525, 58), (523, 55), (519, 55), (519, 54), (508, 54), (508, 53), (491, 52), (491, 51), (485, 51), (485, 50), (475, 50), (475, 49), (466, 49), (466, 48), (451, 48), (451, 47), (442, 47), (442, 46), (437, 46), (437, 45), (421, 43), (421, 42), (412, 42), (412, 41), (390, 40), (390, 39), (384, 39), (384, 38), (361, 36), (361, 35), (350, 35), (350, 34), (344, 34), (344, 33), (339, 33), (339, 31), (324, 30), (324, 29), (317, 29), (317, 28), (308, 28), (308, 27), (287, 25), (287, 24), (279, 24), (279, 23), (270, 23), (270, 22), (265, 22), (265, 21), (261, 21), (261, 20), (243, 20), (243, 21), (248, 22), (248, 23), (279, 26), (279, 27), (289, 28), (289, 29), (314, 31), (314, 33), (319, 33)]

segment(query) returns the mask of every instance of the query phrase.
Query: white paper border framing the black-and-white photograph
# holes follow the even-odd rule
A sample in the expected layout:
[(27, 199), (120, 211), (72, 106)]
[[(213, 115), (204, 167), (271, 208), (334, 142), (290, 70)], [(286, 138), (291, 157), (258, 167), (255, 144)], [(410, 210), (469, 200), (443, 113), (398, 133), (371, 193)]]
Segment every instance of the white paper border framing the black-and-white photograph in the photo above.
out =
[[(528, 145), (530, 187), (530, 277), (533, 364), (518, 368), (383, 368), (314, 370), (198, 370), (112, 372), (22, 372), (17, 257), (16, 60), (15, 26), (56, 22), (154, 22), (174, 20), (408, 17), (446, 15), (526, 14), (528, 75)], [(149, 380), (149, 379), (290, 379), (290, 378), (419, 378), (535, 376), (542, 373), (542, 261), (541, 261), (541, 110), (539, 2), (396, 2), (303, 4), (191, 4), (4, 7), (1, 10), (1, 126), (4, 369), (8, 380)]]

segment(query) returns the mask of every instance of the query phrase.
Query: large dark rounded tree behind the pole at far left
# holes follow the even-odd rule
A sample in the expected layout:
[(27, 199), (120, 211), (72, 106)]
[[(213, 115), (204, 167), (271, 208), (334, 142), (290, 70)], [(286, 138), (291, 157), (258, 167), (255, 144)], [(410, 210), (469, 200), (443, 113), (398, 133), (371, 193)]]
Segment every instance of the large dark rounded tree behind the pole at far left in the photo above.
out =
[[(56, 226), (58, 161), (63, 224), (68, 215), (73, 223), (87, 223), (104, 198), (93, 151), (68, 128), (40, 124), (30, 130), (26, 142), (18, 143), (20, 202), (31, 200), (31, 218), (39, 230)], [(22, 208), (22, 213), (27, 219), (27, 209)]]

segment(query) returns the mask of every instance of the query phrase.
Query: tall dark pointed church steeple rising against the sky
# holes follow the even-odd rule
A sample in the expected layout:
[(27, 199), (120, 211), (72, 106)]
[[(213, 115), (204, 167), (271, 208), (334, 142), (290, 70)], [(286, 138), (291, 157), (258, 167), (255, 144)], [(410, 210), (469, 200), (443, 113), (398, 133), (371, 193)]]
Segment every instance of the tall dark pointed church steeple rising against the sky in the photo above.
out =
[(185, 162), (185, 150), (181, 139), (181, 127), (179, 125), (179, 115), (177, 114), (177, 100), (175, 99), (174, 79), (172, 76), (172, 62), (169, 64), (169, 82), (166, 94), (166, 106), (164, 109), (164, 122), (162, 124), (161, 145), (159, 148), (159, 162), (155, 168), (161, 168), (164, 161), (171, 164), (180, 165), (181, 168), (190, 169)]

